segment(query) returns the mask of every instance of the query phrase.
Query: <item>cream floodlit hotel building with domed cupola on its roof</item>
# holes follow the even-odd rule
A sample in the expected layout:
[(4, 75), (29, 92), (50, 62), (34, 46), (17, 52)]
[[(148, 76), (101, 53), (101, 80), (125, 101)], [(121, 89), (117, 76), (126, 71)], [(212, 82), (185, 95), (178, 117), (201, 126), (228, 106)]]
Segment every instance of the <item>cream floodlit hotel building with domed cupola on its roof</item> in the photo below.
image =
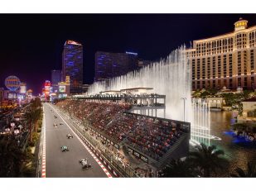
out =
[(242, 18), (234, 31), (193, 41), (186, 50), (192, 69), (192, 88), (256, 88), (256, 26)]

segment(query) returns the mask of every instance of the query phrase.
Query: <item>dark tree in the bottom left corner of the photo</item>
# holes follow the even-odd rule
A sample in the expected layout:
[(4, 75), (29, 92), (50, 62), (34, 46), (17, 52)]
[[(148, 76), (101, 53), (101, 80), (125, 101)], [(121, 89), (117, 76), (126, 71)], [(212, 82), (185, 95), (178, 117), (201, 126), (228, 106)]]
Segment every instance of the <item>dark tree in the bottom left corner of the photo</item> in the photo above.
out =
[(25, 160), (17, 141), (12, 136), (0, 137), (0, 176), (18, 177)]

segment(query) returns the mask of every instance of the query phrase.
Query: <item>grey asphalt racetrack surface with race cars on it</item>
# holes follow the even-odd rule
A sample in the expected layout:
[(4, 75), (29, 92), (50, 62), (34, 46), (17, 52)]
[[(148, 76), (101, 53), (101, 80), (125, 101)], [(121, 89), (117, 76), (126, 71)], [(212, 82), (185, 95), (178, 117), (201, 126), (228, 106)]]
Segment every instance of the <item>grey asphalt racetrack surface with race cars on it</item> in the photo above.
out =
[[(46, 116), (46, 177), (107, 177), (79, 139), (52, 109), (51, 104), (44, 103), (43, 106)], [(53, 126), (54, 123), (57, 127)], [(69, 133), (73, 138), (66, 137)], [(68, 146), (70, 150), (62, 152), (60, 146)], [(82, 170), (79, 160), (85, 158), (92, 167)]]

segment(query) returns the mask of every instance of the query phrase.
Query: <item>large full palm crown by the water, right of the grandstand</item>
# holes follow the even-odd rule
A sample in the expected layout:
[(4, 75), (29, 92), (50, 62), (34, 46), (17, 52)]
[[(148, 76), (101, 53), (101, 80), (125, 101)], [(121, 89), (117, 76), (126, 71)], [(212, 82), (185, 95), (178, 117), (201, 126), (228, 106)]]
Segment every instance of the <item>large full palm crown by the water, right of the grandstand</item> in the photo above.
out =
[(201, 143), (196, 146), (196, 151), (190, 152), (189, 160), (192, 165), (200, 170), (200, 175), (210, 177), (212, 172), (216, 174), (217, 170), (225, 170), (229, 166), (228, 160), (222, 157), (223, 150), (217, 150), (216, 146), (205, 146)]

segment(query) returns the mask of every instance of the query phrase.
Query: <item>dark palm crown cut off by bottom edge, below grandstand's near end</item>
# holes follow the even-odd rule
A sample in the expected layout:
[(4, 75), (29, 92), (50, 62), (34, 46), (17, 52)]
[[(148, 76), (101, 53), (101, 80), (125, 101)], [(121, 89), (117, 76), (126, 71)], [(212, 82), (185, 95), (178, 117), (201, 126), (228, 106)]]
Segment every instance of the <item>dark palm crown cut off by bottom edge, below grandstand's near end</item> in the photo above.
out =
[(195, 177), (196, 174), (188, 160), (171, 160), (170, 165), (162, 170), (162, 177)]

